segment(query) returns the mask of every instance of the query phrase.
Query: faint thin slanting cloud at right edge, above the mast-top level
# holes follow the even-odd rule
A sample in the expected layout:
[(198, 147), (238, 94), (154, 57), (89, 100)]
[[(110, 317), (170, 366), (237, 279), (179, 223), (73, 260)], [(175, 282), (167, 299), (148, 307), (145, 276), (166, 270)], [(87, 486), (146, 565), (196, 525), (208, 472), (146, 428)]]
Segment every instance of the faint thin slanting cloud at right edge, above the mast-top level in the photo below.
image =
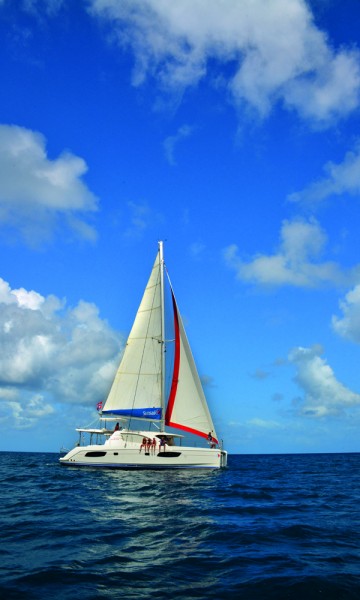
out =
[(360, 143), (347, 152), (343, 162), (325, 165), (326, 176), (289, 196), (292, 202), (319, 202), (330, 196), (360, 194)]

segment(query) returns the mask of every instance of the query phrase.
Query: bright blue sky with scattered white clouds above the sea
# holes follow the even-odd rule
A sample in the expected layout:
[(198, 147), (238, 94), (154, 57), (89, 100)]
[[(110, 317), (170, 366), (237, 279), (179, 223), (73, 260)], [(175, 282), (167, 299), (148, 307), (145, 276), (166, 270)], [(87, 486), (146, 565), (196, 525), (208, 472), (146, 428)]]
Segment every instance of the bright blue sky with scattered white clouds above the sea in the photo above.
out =
[(156, 251), (230, 452), (360, 451), (357, 0), (0, 1), (0, 449), (96, 417)]

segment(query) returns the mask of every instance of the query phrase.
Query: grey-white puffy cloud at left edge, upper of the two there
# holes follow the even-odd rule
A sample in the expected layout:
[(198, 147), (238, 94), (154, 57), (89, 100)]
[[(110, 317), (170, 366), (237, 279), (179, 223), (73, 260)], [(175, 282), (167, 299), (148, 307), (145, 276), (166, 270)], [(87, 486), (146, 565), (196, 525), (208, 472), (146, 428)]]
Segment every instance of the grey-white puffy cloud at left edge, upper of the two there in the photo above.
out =
[(97, 210), (97, 198), (82, 181), (86, 171), (70, 152), (50, 159), (40, 133), (0, 125), (0, 227), (30, 244), (48, 240), (60, 224), (94, 240), (85, 216)]

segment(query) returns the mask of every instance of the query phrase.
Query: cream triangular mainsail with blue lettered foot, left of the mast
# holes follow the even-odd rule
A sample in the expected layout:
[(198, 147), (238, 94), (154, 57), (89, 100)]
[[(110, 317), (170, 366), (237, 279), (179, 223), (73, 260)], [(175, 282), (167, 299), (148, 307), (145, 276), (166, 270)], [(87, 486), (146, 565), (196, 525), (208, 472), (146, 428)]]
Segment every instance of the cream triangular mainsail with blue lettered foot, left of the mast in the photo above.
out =
[(161, 419), (160, 267), (158, 253), (103, 413)]

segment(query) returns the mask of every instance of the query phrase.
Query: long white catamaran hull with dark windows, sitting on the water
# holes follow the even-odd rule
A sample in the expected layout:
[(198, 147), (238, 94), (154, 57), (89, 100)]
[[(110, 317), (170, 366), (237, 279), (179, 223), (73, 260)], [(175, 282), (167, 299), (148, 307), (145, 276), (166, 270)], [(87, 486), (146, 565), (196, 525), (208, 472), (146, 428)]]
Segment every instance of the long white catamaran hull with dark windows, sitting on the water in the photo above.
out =
[(138, 448), (91, 445), (74, 448), (60, 462), (74, 467), (116, 469), (219, 469), (226, 466), (227, 453), (212, 448), (174, 447), (151, 454)]

